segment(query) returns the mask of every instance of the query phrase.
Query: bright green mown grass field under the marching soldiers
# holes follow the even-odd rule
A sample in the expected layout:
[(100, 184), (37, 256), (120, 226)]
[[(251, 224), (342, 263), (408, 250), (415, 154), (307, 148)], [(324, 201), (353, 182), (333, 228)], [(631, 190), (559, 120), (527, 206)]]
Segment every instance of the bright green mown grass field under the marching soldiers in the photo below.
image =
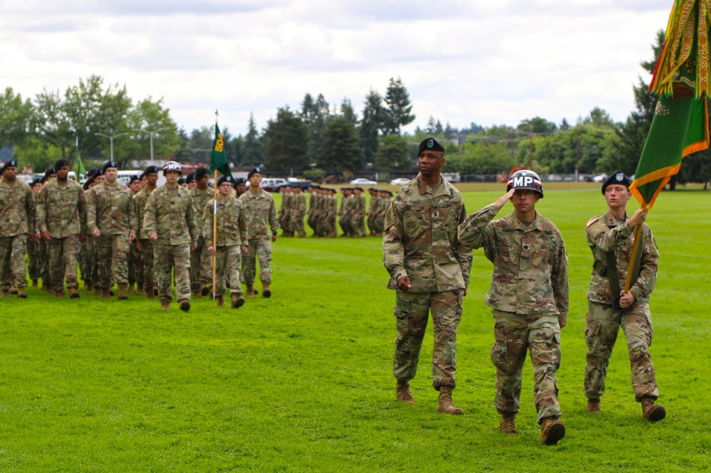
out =
[[(471, 213), (498, 191), (464, 191)], [(571, 310), (558, 371), (567, 435), (540, 445), (530, 361), (518, 436), (498, 432), (491, 263), (474, 252), (458, 336), (464, 416), (436, 412), (432, 327), (415, 405), (395, 402), (394, 292), (378, 238), (274, 244), (271, 299), (242, 309), (38, 289), (0, 300), (0, 472), (703, 472), (711, 470), (711, 192), (665, 192), (648, 223), (661, 252), (651, 346), (667, 418), (641, 420), (620, 334), (602, 399), (585, 412), (587, 220), (599, 187), (547, 188), (538, 203), (570, 257)], [(631, 202), (631, 208), (636, 203)], [(510, 204), (501, 215), (511, 211)]]

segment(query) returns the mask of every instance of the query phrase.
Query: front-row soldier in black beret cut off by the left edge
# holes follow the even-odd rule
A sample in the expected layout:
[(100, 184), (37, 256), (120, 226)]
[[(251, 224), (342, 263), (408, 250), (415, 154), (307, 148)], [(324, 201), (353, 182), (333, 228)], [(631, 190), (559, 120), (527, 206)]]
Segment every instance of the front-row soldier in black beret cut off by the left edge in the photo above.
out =
[(17, 161), (5, 161), (0, 181), (0, 289), (2, 297), (10, 296), (14, 279), (17, 297), (26, 299), (25, 253), (28, 236), (38, 240), (35, 230), (35, 201), (32, 189), (17, 179)]

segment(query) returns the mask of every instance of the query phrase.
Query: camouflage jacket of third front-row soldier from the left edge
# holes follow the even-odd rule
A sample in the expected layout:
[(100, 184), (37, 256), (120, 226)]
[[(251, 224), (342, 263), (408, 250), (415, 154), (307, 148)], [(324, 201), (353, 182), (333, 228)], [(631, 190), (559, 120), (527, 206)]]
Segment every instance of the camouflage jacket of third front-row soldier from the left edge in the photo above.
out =
[(102, 235), (129, 235), (138, 227), (131, 190), (118, 182), (94, 186), (87, 198), (87, 228)]

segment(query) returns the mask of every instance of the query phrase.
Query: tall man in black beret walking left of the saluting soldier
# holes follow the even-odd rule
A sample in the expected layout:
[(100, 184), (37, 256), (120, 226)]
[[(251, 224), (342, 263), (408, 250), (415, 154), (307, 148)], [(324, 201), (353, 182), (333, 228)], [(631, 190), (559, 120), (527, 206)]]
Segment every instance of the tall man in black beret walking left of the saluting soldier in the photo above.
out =
[(385, 217), (383, 264), (395, 299), (397, 400), (415, 403), (409, 381), (415, 378), (427, 317), (432, 312), (434, 349), (432, 387), (439, 391), (437, 412), (464, 414), (451, 400), (456, 383), (456, 327), (469, 284), (471, 250), (457, 239), (466, 211), (461, 194), (440, 171), (444, 147), (434, 138), (419, 145), (419, 175), (400, 189)]

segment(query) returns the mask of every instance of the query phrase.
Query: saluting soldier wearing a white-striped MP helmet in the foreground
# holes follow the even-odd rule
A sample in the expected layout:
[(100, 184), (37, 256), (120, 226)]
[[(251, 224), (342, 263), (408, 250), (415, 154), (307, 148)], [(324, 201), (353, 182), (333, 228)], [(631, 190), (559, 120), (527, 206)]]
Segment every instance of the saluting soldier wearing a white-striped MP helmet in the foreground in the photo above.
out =
[[(466, 218), (459, 226), (459, 240), (470, 248), (483, 248), (494, 265), (485, 302), (493, 309), (496, 341), (491, 361), (496, 366), (499, 428), (509, 435), (516, 433), (528, 350), (541, 442), (554, 445), (565, 436), (555, 376), (560, 366), (560, 329), (568, 312), (565, 244), (556, 226), (535, 210), (543, 196), (538, 174), (515, 172), (507, 190), (495, 203)], [(513, 213), (493, 220), (509, 200)]]

